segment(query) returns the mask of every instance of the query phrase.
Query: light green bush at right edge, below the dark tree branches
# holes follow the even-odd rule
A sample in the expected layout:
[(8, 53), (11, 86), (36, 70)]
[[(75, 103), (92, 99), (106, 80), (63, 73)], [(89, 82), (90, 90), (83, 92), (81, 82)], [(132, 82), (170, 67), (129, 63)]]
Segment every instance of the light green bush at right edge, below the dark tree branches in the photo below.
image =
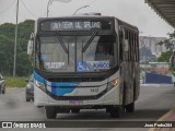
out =
[(162, 55), (158, 58), (159, 62), (170, 62), (170, 58), (172, 56), (172, 51), (162, 52)]

